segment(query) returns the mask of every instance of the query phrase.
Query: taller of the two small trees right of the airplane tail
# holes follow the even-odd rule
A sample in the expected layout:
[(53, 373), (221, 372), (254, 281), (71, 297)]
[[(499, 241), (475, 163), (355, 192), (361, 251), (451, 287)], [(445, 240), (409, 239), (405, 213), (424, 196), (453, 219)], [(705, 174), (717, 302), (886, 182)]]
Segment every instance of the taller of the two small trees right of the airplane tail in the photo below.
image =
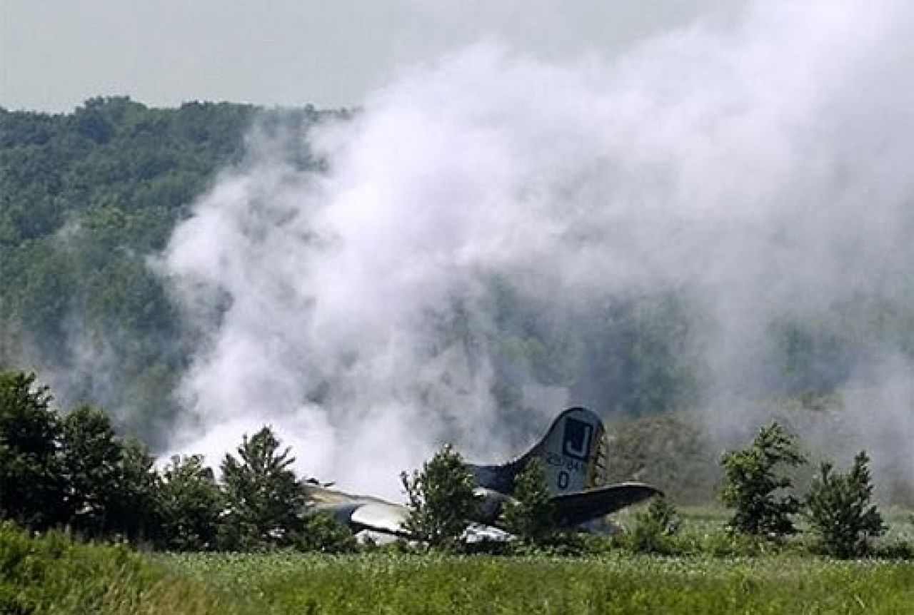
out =
[(799, 466), (805, 459), (792, 437), (777, 422), (759, 430), (752, 444), (724, 453), (724, 504), (735, 508), (729, 526), (743, 534), (778, 538), (796, 532), (790, 515), (800, 510), (792, 495), (775, 492), (792, 486), (779, 466)]

